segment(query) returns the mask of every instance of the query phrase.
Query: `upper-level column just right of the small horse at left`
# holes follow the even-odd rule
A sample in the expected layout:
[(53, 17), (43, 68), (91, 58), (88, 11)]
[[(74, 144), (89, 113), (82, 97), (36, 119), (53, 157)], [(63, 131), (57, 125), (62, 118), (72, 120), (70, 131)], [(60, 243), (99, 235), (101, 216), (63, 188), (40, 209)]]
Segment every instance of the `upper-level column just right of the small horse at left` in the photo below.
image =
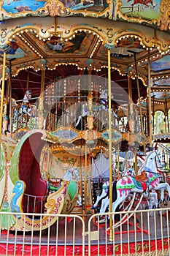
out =
[(39, 129), (43, 129), (43, 127), (44, 127), (44, 119), (45, 119), (45, 116), (44, 116), (44, 90), (45, 90), (45, 64), (42, 64), (41, 90), (40, 90), (39, 106), (38, 106), (38, 128)]

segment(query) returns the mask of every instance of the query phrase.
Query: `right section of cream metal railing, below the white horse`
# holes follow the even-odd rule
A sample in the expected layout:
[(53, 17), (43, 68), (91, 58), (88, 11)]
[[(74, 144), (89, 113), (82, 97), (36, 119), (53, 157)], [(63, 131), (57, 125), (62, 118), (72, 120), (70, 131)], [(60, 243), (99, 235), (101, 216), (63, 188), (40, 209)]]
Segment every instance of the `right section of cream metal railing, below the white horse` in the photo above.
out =
[(88, 255), (93, 255), (94, 243), (96, 255), (170, 255), (169, 210), (120, 211), (119, 220), (115, 214), (94, 214), (88, 221)]

